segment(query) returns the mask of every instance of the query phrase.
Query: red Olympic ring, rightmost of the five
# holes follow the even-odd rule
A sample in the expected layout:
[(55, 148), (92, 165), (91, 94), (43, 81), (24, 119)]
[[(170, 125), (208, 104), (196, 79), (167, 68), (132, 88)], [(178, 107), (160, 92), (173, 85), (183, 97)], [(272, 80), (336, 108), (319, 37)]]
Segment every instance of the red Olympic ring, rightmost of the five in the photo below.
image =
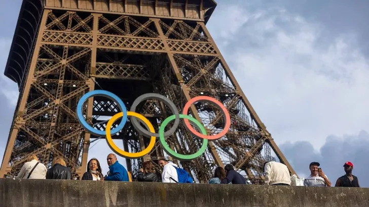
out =
[(223, 137), (225, 134), (227, 134), (230, 126), (231, 126), (231, 117), (229, 115), (228, 110), (226, 109), (226, 107), (223, 106), (223, 103), (221, 103), (220, 101), (216, 100), (215, 98), (209, 97), (209, 96), (197, 96), (194, 98), (191, 98), (185, 105), (185, 107), (183, 107), (183, 114), (187, 115), (188, 110), (190, 109), (191, 105), (199, 100), (208, 100), (211, 101), (213, 103), (215, 103), (216, 105), (218, 105), (224, 112), (224, 115), (226, 115), (226, 124), (224, 126), (224, 129), (216, 134), (216, 135), (203, 135), (199, 132), (197, 132), (190, 124), (188, 119), (184, 119), (183, 121), (185, 121), (185, 124), (187, 126), (187, 128), (192, 132), (192, 134), (194, 134), (197, 137), (203, 138), (203, 139), (210, 139), (210, 140), (215, 140), (215, 139), (219, 139), (220, 137)]

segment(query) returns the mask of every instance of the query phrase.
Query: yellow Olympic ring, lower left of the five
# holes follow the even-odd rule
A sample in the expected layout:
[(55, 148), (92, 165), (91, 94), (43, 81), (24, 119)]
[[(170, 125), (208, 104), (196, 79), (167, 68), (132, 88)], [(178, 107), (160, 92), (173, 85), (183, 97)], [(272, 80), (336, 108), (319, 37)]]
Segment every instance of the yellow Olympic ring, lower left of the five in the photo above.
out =
[[(155, 133), (155, 129), (154, 126), (151, 124), (151, 122), (146, 119), (146, 117), (136, 113), (136, 112), (127, 112), (127, 116), (131, 116), (131, 117), (136, 117), (140, 120), (142, 120), (147, 127), (149, 127), (149, 130), (151, 133)], [(118, 154), (120, 154), (122, 157), (124, 158), (128, 158), (128, 159), (135, 159), (135, 158), (142, 158), (143, 156), (145, 156), (147, 153), (149, 153), (155, 145), (155, 141), (156, 141), (156, 137), (152, 136), (150, 139), (150, 143), (149, 146), (147, 146), (144, 150), (139, 151), (139, 152), (128, 152), (128, 151), (124, 151), (121, 148), (119, 148), (112, 139), (112, 135), (110, 134), (110, 128), (112, 128), (113, 123), (119, 119), (123, 117), (123, 112), (120, 112), (116, 115), (114, 115), (112, 118), (109, 119), (109, 121), (106, 124), (106, 140), (107, 140), (107, 144), (114, 150), (116, 151)]]

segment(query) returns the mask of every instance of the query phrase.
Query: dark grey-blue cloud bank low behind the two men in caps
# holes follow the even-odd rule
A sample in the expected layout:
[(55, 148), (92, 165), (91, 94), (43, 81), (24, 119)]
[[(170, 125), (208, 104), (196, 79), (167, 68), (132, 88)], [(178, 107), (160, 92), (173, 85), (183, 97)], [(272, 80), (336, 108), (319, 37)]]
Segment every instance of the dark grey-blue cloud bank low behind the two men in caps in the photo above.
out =
[(354, 164), (353, 174), (358, 177), (360, 186), (369, 187), (368, 146), (369, 134), (361, 131), (358, 135), (329, 136), (319, 151), (314, 150), (307, 141), (286, 142), (280, 149), (300, 177), (301, 174), (310, 174), (311, 162), (319, 162), (323, 172), (335, 185), (337, 178), (345, 174), (344, 163), (350, 161)]

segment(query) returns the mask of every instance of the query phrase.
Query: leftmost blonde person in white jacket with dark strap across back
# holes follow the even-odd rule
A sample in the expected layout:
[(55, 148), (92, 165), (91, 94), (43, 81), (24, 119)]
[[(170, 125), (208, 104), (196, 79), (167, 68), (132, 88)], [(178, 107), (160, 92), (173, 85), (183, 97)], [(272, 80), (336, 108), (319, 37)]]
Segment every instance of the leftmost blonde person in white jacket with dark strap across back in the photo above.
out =
[(24, 163), (22, 169), (19, 171), (17, 178), (30, 179), (45, 179), (48, 169), (44, 164), (40, 163), (35, 154), (27, 157), (27, 162)]

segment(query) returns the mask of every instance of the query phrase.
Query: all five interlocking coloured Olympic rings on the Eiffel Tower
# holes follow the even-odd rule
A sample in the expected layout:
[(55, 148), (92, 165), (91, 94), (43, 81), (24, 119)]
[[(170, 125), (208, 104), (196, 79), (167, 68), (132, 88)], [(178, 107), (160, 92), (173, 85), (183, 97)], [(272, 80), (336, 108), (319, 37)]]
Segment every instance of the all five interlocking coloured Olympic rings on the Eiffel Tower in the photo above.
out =
[[(110, 120), (107, 122), (106, 127), (105, 127), (105, 131), (101, 131), (98, 129), (95, 129), (94, 127), (90, 126), (87, 121), (85, 120), (84, 116), (83, 116), (83, 103), (89, 99), (92, 96), (96, 96), (96, 95), (100, 95), (106, 98), (110, 98), (113, 99), (116, 103), (118, 103), (118, 108), (122, 111), (116, 115), (114, 115), (112, 118), (110, 118)], [(150, 121), (148, 119), (146, 119), (144, 116), (142, 116), (141, 114), (138, 114), (135, 112), (138, 104), (146, 99), (159, 99), (160, 101), (163, 101), (172, 111), (173, 115), (169, 116), (168, 118), (166, 118), (160, 128), (159, 128), (159, 132), (155, 133), (155, 129), (154, 126), (150, 123)], [(224, 116), (224, 121), (225, 121), (225, 127), (222, 130), (222, 132), (216, 134), (216, 135), (207, 135), (206, 130), (204, 128), (204, 126), (195, 118), (188, 116), (188, 111), (190, 106), (198, 101), (205, 101), (205, 102), (209, 102), (209, 103), (215, 103), (215, 107), (217, 109), (219, 109), (223, 116)], [(96, 136), (106, 136), (106, 141), (108, 143), (108, 145), (110, 146), (110, 148), (112, 148), (114, 151), (116, 151), (118, 154), (120, 154), (122, 157), (127, 158), (127, 159), (136, 159), (136, 158), (142, 158), (143, 156), (145, 156), (147, 153), (149, 153), (155, 145), (156, 142), (156, 138), (159, 137), (160, 143), (163, 147), (163, 149), (173, 158), (178, 159), (178, 160), (184, 160), (184, 161), (189, 161), (189, 160), (193, 160), (198, 158), (199, 156), (201, 156), (202, 153), (204, 153), (204, 151), (207, 148), (207, 144), (209, 142), (209, 140), (216, 140), (219, 139), (220, 137), (224, 136), (227, 131), (230, 128), (231, 125), (231, 118), (230, 118), (230, 114), (227, 111), (227, 109), (223, 106), (223, 104), (212, 98), (209, 96), (197, 96), (194, 98), (191, 98), (185, 105), (185, 107), (183, 107), (183, 114), (179, 114), (177, 107), (174, 105), (174, 103), (167, 98), (166, 96), (160, 95), (160, 94), (156, 94), (156, 93), (146, 93), (143, 95), (140, 95), (139, 97), (137, 97), (131, 106), (131, 111), (127, 111), (126, 106), (124, 104), (124, 102), (114, 93), (112, 92), (108, 92), (105, 90), (94, 90), (94, 91), (90, 91), (88, 93), (86, 93), (85, 95), (83, 95), (81, 97), (81, 99), (78, 102), (77, 105), (77, 118), (78, 121), (80, 122), (80, 124), (82, 125), (83, 128), (85, 128), (88, 132), (90, 132), (91, 134), (94, 134)], [(150, 143), (149, 145), (142, 151), (139, 152), (128, 152), (128, 151), (124, 151), (122, 149), (120, 149), (114, 142), (112, 139), (112, 135), (117, 134), (119, 131), (121, 131), (123, 129), (123, 127), (125, 126), (126, 122), (127, 122), (127, 118), (131, 117), (131, 123), (132, 125), (136, 128), (136, 130), (138, 131), (139, 134), (144, 135), (145, 137), (149, 137), (150, 138)], [(113, 126), (113, 123), (119, 119), (120, 117), (122, 117), (121, 123), (115, 128), (115, 129), (111, 129)], [(200, 149), (193, 153), (193, 154), (180, 154), (175, 152), (173, 149), (171, 149), (169, 147), (169, 145), (166, 143), (165, 138), (172, 135), (176, 128), (178, 127), (179, 123), (180, 123), (180, 119), (183, 119), (183, 122), (185, 123), (186, 128), (190, 131), (190, 133), (196, 137), (199, 137), (202, 140), (202, 145), (200, 147)], [(172, 126), (172, 128), (170, 128), (168, 131), (164, 132), (165, 127), (169, 124), (169, 122), (174, 120), (174, 124)], [(144, 129), (140, 124), (143, 123), (146, 127), (146, 129)], [(190, 122), (192, 122), (195, 127), (197, 129), (199, 129), (199, 131), (201, 131), (201, 133), (197, 132), (192, 125), (190, 124)]]

